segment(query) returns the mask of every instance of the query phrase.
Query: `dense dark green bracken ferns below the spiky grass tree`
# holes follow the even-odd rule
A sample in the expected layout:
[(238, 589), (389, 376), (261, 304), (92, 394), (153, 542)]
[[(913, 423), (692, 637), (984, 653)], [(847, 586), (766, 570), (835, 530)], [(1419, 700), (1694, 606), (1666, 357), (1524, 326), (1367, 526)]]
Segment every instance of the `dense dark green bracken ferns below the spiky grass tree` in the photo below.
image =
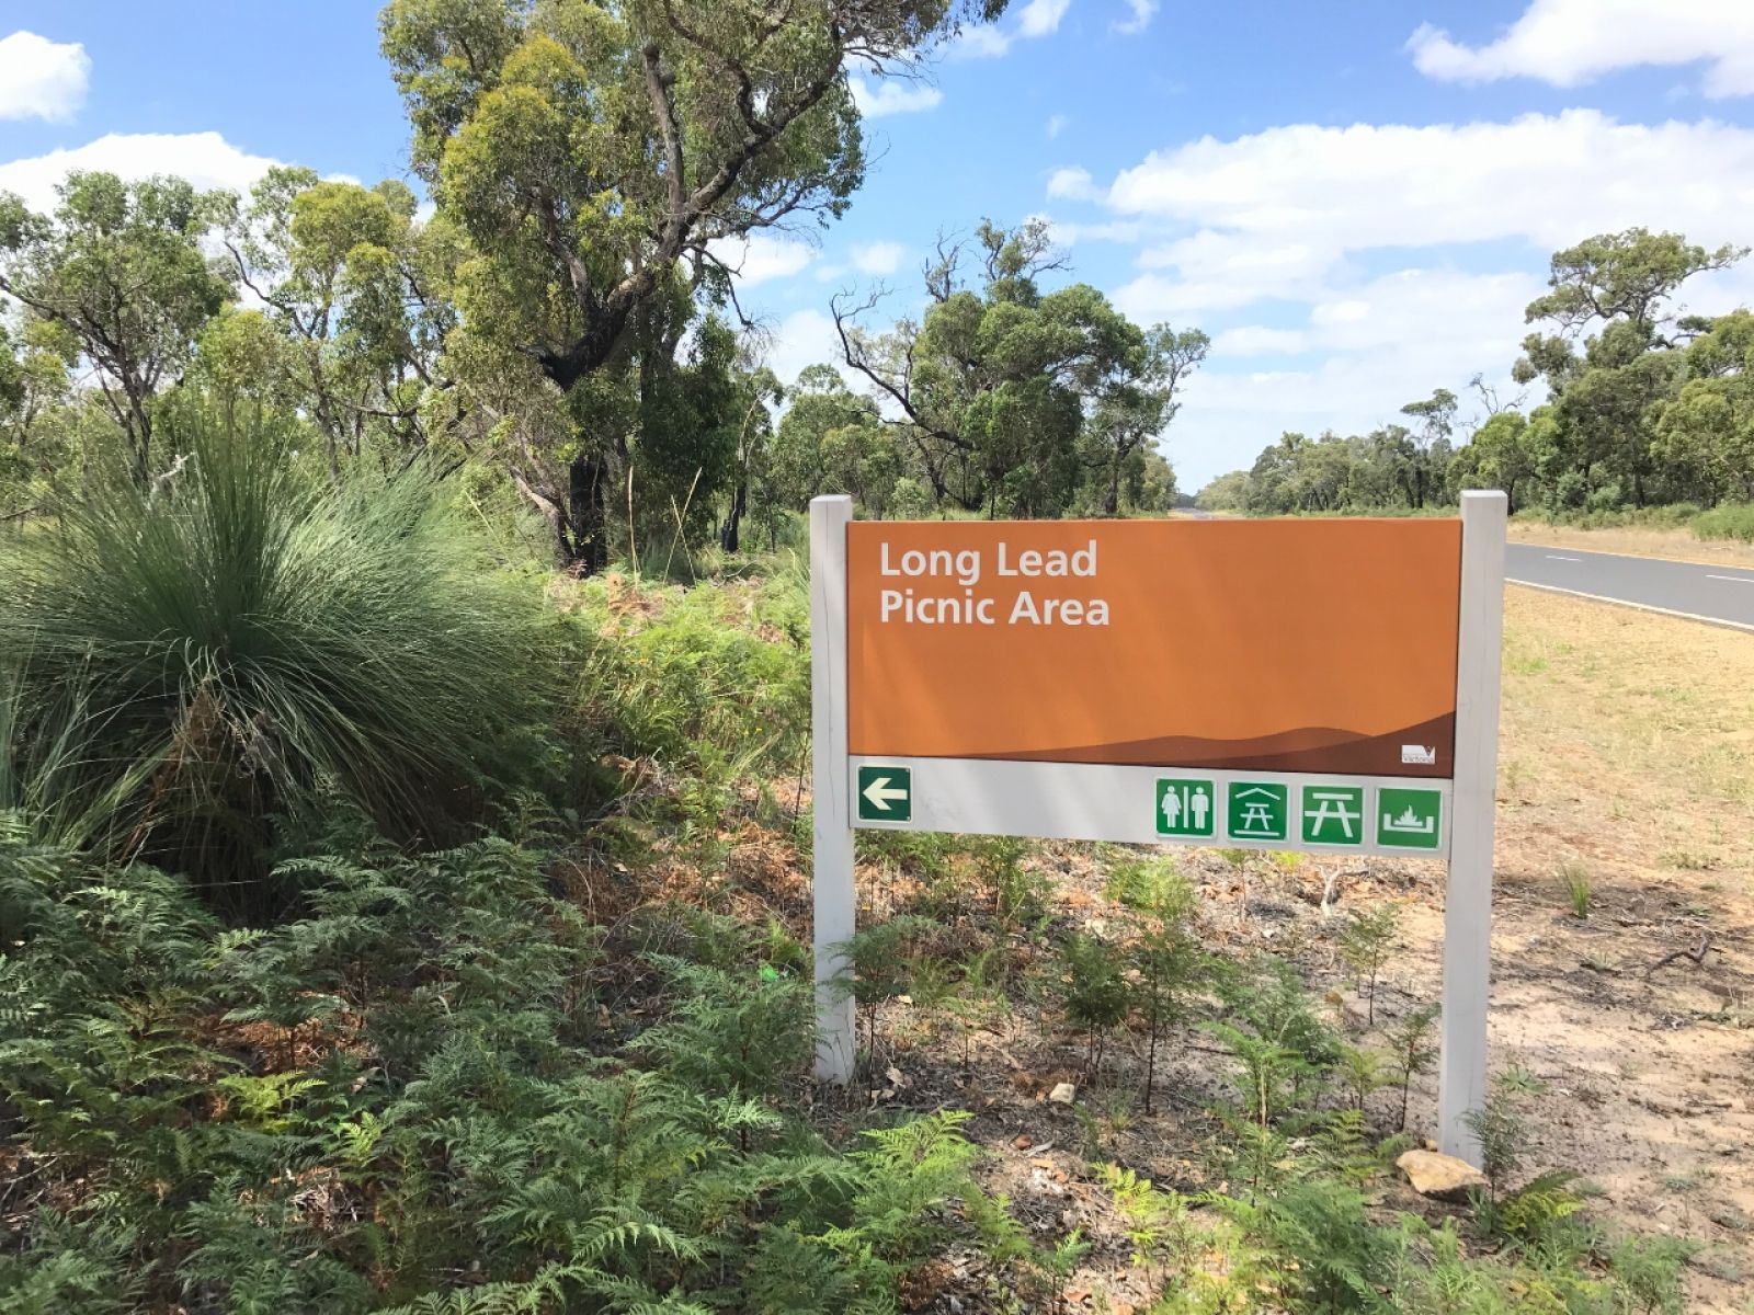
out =
[(303, 859), (310, 917), (226, 931), (0, 815), (0, 1306), (879, 1311), (949, 1198), (1028, 1250), (966, 1115), (847, 1155), (775, 1098), (803, 980), (665, 959), (702, 994), (605, 1036), (544, 859)]

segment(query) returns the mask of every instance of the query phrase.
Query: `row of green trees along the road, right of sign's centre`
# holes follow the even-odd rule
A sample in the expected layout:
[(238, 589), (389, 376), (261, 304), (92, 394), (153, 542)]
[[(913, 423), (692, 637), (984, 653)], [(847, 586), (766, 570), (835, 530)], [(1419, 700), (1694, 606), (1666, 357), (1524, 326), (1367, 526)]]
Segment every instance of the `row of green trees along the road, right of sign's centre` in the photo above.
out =
[[(1498, 487), (1512, 510), (1754, 498), (1754, 393), (1745, 375), (1754, 319), (1677, 310), (1682, 284), (1722, 270), (1745, 247), (1705, 249), (1677, 233), (1603, 233), (1552, 258), (1549, 291), (1526, 310), (1512, 377), (1542, 384), (1524, 414), (1475, 379), (1475, 414), (1447, 389), (1401, 414), (1414, 428), (1368, 438), (1286, 435), (1249, 472), (1201, 491), (1209, 507), (1252, 512), (1449, 503)], [(1452, 444), (1458, 428), (1472, 433)]]

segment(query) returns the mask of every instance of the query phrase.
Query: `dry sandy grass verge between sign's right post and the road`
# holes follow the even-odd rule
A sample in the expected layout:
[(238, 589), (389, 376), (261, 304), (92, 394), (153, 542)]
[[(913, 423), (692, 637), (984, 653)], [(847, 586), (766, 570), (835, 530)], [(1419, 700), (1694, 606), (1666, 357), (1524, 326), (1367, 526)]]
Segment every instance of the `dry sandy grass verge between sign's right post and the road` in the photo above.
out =
[[(1493, 1045), (1552, 1077), (1547, 1162), (1615, 1226), (1754, 1271), (1754, 1236), (1712, 1224), (1754, 1212), (1728, 1154), (1754, 1138), (1754, 635), (1512, 586), (1498, 800)], [(1691, 1287), (1689, 1310), (1749, 1310), (1738, 1282)]]

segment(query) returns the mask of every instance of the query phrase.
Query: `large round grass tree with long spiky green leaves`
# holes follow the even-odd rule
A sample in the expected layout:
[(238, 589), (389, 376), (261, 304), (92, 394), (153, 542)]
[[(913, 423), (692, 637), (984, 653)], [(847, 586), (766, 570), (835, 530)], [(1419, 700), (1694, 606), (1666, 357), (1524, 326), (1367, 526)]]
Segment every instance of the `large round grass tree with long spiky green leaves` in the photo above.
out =
[(12, 752), (70, 740), (63, 793), (128, 784), (109, 843), (210, 892), (260, 878), (268, 819), (324, 785), (393, 836), (454, 835), (533, 715), (535, 605), (419, 465), (335, 489), (270, 433), (182, 438), (175, 473), (95, 477), (12, 545)]

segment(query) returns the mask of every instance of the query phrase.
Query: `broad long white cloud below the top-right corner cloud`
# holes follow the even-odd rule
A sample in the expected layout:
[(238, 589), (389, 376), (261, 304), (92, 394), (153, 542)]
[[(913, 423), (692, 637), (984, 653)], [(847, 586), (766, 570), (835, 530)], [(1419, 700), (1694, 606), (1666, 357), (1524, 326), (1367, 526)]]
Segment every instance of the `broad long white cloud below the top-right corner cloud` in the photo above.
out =
[(1633, 224), (1731, 242), (1747, 237), (1754, 210), (1754, 130), (1624, 124), (1596, 110), (1421, 128), (1293, 124), (1152, 153), (1114, 181), (1109, 205), (1207, 230), (1152, 258), (1184, 277), (1256, 259), (1258, 249), (1307, 247), (1307, 265), (1321, 270), (1373, 247), (1522, 238), (1547, 252)]

